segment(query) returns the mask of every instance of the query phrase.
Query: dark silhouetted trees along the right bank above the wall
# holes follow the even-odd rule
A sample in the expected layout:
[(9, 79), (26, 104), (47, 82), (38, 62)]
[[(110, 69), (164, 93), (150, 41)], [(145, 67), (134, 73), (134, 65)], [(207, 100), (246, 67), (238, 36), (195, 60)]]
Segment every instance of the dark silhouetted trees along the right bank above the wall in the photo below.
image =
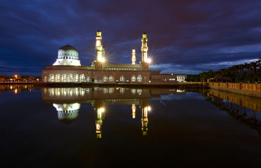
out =
[(187, 75), (186, 81), (200, 82), (202, 79), (209, 78), (231, 78), (231, 82), (243, 83), (261, 83), (261, 57), (256, 62), (245, 64), (237, 64), (227, 69), (219, 69), (218, 71), (202, 71), (198, 75)]

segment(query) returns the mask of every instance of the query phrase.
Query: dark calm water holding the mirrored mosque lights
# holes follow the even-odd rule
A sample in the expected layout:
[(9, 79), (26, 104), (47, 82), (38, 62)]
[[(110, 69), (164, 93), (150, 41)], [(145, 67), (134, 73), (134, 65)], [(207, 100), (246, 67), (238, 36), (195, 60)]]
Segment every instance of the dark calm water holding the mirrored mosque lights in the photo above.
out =
[(5, 167), (260, 167), (259, 99), (246, 108), (215, 90), (1, 89)]

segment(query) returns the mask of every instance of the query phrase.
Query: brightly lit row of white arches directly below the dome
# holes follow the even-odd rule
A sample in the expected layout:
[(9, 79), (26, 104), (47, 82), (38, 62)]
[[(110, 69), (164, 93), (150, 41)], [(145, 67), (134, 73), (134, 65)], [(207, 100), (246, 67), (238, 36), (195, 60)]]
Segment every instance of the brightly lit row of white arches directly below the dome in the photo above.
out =
[(51, 73), (49, 75), (49, 78), (47, 76), (44, 77), (44, 82), (90, 82), (91, 78), (89, 76), (85, 77), (85, 75), (82, 73), (81, 75), (74, 74), (53, 74)]

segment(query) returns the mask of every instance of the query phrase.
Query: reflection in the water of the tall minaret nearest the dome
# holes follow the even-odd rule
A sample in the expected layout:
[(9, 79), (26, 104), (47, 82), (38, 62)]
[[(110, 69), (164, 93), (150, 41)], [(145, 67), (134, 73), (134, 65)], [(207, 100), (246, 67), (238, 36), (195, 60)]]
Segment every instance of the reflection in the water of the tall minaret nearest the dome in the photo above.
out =
[(96, 116), (96, 138), (101, 139), (101, 125), (103, 125), (103, 118), (105, 115), (105, 107), (103, 106), (102, 102), (96, 101), (94, 109), (96, 110), (97, 116)]

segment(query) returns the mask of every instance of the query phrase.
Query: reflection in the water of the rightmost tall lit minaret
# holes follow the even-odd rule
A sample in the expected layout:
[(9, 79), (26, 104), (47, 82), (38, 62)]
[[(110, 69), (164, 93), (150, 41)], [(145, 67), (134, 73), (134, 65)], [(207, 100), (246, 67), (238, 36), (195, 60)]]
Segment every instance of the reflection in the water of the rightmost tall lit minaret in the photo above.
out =
[(148, 134), (148, 111), (151, 111), (148, 99), (141, 99), (141, 131), (144, 136)]

